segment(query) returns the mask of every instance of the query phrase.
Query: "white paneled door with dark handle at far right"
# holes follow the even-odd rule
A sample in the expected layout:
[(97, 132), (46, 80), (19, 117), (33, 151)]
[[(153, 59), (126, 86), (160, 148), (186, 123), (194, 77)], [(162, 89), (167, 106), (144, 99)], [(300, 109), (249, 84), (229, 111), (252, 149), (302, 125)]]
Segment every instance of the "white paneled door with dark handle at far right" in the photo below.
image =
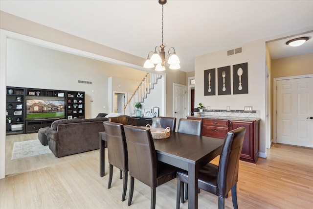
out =
[(277, 81), (277, 142), (313, 147), (313, 77)]

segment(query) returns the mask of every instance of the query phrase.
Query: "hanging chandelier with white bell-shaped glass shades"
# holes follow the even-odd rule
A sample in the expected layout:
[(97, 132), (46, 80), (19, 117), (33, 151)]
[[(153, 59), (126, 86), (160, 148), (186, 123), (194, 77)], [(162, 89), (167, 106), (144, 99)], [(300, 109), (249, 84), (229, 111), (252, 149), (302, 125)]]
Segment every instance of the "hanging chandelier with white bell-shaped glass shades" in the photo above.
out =
[[(165, 62), (167, 61), (167, 63), (170, 65), (170, 69), (177, 70), (180, 69), (180, 62), (178, 56), (175, 53), (175, 48), (169, 48), (167, 56), (165, 56), (165, 45), (163, 44), (163, 5), (166, 3), (166, 0), (158, 0), (158, 3), (162, 5), (162, 45), (160, 45), (161, 50), (158, 46), (156, 46), (155, 51), (150, 51), (143, 67), (154, 68), (156, 65), (156, 71), (163, 71), (165, 70)], [(170, 52), (171, 49), (173, 49), (173, 52)], [(151, 58), (150, 54), (152, 54)]]

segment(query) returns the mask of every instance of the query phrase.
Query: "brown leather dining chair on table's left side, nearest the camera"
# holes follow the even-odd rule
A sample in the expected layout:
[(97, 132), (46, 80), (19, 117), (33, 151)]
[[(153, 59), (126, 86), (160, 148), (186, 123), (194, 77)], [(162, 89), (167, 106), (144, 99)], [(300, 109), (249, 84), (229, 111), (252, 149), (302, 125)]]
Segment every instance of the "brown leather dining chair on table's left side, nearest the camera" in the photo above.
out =
[(134, 178), (151, 188), (151, 209), (156, 208), (156, 187), (176, 177), (177, 168), (156, 160), (156, 149), (150, 130), (124, 125), (130, 176), (128, 206), (132, 204)]

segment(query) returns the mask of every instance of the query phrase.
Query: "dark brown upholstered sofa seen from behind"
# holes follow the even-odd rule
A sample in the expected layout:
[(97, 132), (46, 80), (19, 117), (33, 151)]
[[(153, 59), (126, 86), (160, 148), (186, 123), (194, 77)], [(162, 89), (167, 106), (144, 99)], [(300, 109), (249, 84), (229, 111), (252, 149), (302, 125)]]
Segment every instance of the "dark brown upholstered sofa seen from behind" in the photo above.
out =
[(60, 119), (45, 131), (49, 148), (55, 157), (63, 157), (99, 149), (99, 132), (104, 131), (107, 117), (91, 119)]

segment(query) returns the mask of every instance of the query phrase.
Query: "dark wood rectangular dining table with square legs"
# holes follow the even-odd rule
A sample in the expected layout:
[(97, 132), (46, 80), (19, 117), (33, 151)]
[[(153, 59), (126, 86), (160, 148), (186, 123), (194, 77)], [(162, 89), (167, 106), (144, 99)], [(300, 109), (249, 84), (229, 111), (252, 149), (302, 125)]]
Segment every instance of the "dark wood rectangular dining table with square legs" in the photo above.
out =
[[(105, 132), (100, 132), (100, 176), (105, 175)], [(188, 171), (188, 209), (198, 208), (198, 170), (221, 154), (224, 139), (171, 132), (154, 139), (158, 161)]]

